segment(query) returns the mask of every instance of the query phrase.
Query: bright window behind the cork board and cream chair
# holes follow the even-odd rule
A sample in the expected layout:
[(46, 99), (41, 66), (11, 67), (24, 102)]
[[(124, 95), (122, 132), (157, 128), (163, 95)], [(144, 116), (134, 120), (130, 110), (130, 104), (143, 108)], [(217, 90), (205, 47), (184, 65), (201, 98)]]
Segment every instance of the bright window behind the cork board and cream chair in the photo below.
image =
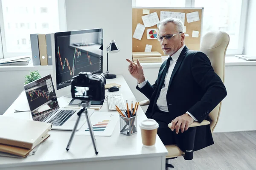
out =
[(227, 55), (242, 54), (248, 0), (133, 0), (136, 7), (204, 7), (201, 37), (208, 31), (230, 35)]

